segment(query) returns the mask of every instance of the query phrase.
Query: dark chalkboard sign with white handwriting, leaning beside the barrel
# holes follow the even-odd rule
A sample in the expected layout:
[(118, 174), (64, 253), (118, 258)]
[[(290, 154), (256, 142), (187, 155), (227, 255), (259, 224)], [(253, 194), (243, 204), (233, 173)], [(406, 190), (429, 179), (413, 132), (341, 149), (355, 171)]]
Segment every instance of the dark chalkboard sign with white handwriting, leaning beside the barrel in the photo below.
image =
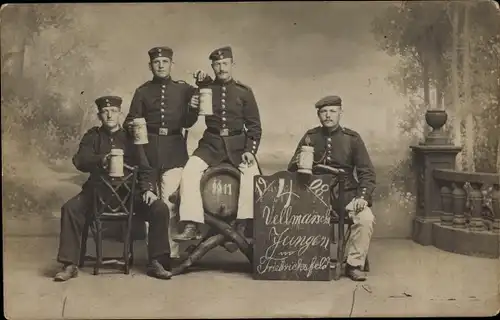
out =
[(254, 178), (254, 279), (330, 280), (332, 179), (288, 171)]

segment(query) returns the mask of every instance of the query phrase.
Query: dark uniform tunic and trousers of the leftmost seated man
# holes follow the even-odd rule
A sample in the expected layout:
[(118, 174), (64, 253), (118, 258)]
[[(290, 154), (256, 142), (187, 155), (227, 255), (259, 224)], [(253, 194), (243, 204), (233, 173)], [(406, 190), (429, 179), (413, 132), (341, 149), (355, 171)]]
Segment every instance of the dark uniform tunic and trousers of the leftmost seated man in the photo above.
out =
[[(124, 129), (110, 133), (103, 127), (94, 127), (83, 136), (78, 152), (73, 157), (73, 164), (82, 171), (90, 173), (89, 180), (83, 185), (82, 192), (69, 199), (61, 208), (61, 234), (57, 260), (61, 263), (78, 264), (80, 243), (85, 224), (85, 217), (92, 208), (92, 186), (97, 182), (99, 174), (105, 173), (102, 160), (112, 148), (124, 151), (124, 163), (139, 167), (138, 192), (135, 194), (134, 211), (150, 221), (148, 233), (148, 256), (150, 259), (170, 256), (169, 221), (170, 213), (167, 205), (161, 201), (154, 201), (151, 206), (146, 205), (140, 195), (153, 191), (150, 182), (152, 168), (145, 163), (146, 156), (142, 148), (128, 138)], [(125, 172), (127, 170), (124, 170)]]

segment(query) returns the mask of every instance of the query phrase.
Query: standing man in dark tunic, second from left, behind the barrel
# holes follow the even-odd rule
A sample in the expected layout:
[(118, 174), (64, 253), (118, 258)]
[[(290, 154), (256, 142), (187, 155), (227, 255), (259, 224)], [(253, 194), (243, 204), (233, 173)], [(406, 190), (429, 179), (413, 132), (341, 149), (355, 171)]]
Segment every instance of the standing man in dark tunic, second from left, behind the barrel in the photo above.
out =
[[(179, 258), (179, 245), (171, 238), (176, 233), (176, 213), (168, 197), (178, 189), (182, 168), (188, 160), (183, 129), (192, 127), (198, 119), (198, 109), (192, 107), (193, 99), (197, 99), (194, 96), (196, 88), (172, 79), (171, 48), (155, 47), (148, 54), (153, 79), (135, 90), (125, 127), (133, 130), (134, 119), (146, 120), (148, 143), (144, 149), (149, 165), (155, 170), (152, 183), (158, 187), (161, 199), (170, 209), (171, 257)], [(200, 71), (195, 73), (195, 77), (197, 84), (202, 84), (207, 76)], [(207, 77), (205, 81), (210, 80)]]

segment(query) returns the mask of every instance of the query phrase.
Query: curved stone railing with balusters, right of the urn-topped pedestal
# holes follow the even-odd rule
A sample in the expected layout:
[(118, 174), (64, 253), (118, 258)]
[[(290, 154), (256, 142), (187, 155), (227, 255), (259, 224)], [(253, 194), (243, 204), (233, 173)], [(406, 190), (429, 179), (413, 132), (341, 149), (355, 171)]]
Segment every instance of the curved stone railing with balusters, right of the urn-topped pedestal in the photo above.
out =
[(440, 217), (433, 245), (450, 252), (498, 258), (500, 254), (500, 174), (434, 169), (440, 186)]

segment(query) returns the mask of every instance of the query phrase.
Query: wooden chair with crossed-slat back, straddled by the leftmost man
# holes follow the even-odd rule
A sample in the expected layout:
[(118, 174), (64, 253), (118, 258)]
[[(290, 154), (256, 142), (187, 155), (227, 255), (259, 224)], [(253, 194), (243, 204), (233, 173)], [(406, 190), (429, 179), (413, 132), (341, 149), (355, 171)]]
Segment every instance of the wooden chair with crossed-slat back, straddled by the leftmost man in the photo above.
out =
[[(137, 181), (137, 167), (124, 165), (124, 177), (113, 178), (99, 175), (94, 182), (92, 210), (87, 214), (83, 228), (82, 243), (80, 247), (80, 268), (85, 261), (95, 261), (94, 275), (99, 274), (99, 268), (104, 264), (124, 264), (125, 274), (129, 274), (133, 264), (134, 246), (131, 239), (132, 220), (134, 216), (134, 195)], [(123, 255), (121, 257), (102, 256), (102, 223), (104, 221), (125, 223), (125, 237)], [(96, 256), (87, 256), (87, 239), (92, 226), (96, 245)]]

